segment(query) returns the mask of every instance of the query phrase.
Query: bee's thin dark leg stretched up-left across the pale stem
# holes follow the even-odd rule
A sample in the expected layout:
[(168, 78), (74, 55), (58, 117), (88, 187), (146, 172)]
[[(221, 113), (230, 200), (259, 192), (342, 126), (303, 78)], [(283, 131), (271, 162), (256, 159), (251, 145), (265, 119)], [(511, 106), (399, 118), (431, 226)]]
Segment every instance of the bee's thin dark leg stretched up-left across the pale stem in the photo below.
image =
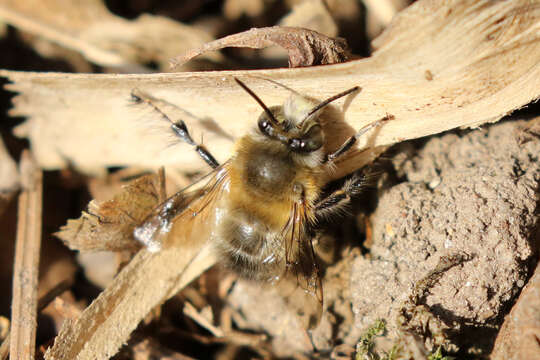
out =
[(189, 130), (186, 126), (186, 123), (183, 120), (172, 121), (167, 114), (165, 114), (157, 105), (160, 101), (154, 99), (153, 97), (143, 93), (138, 89), (133, 89), (131, 91), (131, 97), (136, 103), (145, 103), (148, 104), (154, 111), (159, 113), (164, 120), (167, 120), (171, 123), (171, 129), (176, 136), (178, 136), (182, 141), (193, 146), (195, 152), (199, 154), (201, 159), (204, 160), (212, 169), (215, 169), (219, 166), (219, 162), (216, 158), (210, 153), (210, 151), (201, 143), (197, 143), (193, 140), (189, 134)]

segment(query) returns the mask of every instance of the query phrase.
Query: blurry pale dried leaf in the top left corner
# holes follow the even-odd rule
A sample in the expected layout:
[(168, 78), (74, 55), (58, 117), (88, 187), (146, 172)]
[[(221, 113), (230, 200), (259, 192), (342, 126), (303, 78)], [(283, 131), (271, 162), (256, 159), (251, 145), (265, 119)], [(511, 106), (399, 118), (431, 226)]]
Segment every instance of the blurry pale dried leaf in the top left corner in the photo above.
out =
[[(150, 61), (165, 70), (170, 57), (212, 40), (202, 30), (160, 16), (125, 20), (101, 0), (1, 0), (0, 18), (91, 62), (123, 71), (148, 72), (141, 65)], [(213, 54), (211, 59), (221, 58)]]

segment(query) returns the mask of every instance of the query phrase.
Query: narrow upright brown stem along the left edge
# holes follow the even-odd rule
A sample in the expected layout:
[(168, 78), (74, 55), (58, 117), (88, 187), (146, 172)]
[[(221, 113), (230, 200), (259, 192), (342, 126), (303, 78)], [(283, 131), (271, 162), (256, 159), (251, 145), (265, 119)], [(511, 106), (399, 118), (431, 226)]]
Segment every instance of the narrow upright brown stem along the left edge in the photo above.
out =
[(13, 271), (11, 359), (33, 359), (36, 342), (43, 175), (29, 152), (21, 158), (23, 191), (19, 197)]

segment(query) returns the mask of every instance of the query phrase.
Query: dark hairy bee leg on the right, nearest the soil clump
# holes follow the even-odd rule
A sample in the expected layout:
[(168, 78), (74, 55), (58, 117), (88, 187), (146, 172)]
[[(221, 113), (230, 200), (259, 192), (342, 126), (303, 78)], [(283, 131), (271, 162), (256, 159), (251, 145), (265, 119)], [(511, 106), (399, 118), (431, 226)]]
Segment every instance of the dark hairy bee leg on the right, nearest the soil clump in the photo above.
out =
[(315, 216), (322, 220), (332, 215), (343, 213), (349, 205), (351, 198), (358, 195), (366, 185), (366, 178), (355, 175), (345, 184), (315, 204)]

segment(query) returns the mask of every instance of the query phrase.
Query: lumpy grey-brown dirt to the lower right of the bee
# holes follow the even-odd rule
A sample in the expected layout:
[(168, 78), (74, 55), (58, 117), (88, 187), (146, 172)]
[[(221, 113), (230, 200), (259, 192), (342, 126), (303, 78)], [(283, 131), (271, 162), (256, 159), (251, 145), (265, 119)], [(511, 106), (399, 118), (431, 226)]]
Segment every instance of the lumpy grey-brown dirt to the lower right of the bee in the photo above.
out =
[[(353, 347), (384, 319), (381, 349), (409, 347), (407, 334), (415, 334), (428, 350), (489, 354), (536, 263), (540, 140), (537, 129), (526, 130), (531, 123), (505, 121), (400, 146), (391, 161), (399, 180), (383, 176), (370, 217), (369, 253), (347, 250), (327, 269), (326, 312), (313, 332), (319, 350)], [(455, 255), (458, 261), (435, 270)], [(275, 337), (280, 355), (311, 347), (275, 306), (278, 296), (238, 283), (230, 301), (247, 327)]]

